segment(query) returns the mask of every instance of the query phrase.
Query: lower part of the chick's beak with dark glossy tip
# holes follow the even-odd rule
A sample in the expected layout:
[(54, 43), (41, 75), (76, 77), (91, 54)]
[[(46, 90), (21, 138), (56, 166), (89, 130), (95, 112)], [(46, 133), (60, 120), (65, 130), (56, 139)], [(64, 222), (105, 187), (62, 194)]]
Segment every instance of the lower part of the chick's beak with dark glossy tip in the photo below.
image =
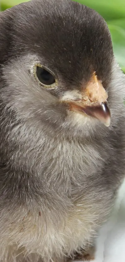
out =
[(88, 116), (92, 116), (98, 120), (100, 120), (105, 126), (110, 125), (110, 111), (107, 102), (102, 102), (96, 106), (84, 106), (81, 102), (71, 103), (70, 110), (75, 111), (80, 114), (87, 114)]

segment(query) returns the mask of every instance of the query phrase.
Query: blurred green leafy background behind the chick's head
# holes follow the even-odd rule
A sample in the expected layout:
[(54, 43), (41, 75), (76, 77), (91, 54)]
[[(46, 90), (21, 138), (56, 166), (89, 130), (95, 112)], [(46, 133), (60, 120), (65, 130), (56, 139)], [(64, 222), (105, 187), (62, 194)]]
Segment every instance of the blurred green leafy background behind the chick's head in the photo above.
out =
[[(1, 0), (0, 10), (28, 0)], [(51, 1), (51, 0), (50, 0)], [(77, 0), (99, 12), (108, 23), (115, 57), (125, 72), (125, 0)]]

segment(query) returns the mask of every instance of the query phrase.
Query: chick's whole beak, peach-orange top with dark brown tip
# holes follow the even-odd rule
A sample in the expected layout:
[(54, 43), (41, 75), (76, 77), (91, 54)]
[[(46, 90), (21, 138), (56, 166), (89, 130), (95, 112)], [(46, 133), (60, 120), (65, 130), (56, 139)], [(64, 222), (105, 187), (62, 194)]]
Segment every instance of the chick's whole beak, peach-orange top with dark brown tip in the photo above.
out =
[(100, 120), (105, 126), (109, 126), (111, 116), (107, 98), (108, 95), (94, 72), (86, 89), (82, 91), (82, 99), (65, 102), (69, 104), (69, 110), (87, 114)]

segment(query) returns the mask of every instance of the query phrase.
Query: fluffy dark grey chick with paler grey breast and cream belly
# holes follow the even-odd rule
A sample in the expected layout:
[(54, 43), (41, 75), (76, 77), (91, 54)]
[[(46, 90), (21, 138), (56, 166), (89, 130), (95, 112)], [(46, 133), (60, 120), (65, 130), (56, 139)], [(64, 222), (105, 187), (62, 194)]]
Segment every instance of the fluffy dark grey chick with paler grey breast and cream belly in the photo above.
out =
[(69, 0), (2, 12), (0, 82), (0, 262), (74, 257), (125, 174), (125, 78), (106, 22)]

